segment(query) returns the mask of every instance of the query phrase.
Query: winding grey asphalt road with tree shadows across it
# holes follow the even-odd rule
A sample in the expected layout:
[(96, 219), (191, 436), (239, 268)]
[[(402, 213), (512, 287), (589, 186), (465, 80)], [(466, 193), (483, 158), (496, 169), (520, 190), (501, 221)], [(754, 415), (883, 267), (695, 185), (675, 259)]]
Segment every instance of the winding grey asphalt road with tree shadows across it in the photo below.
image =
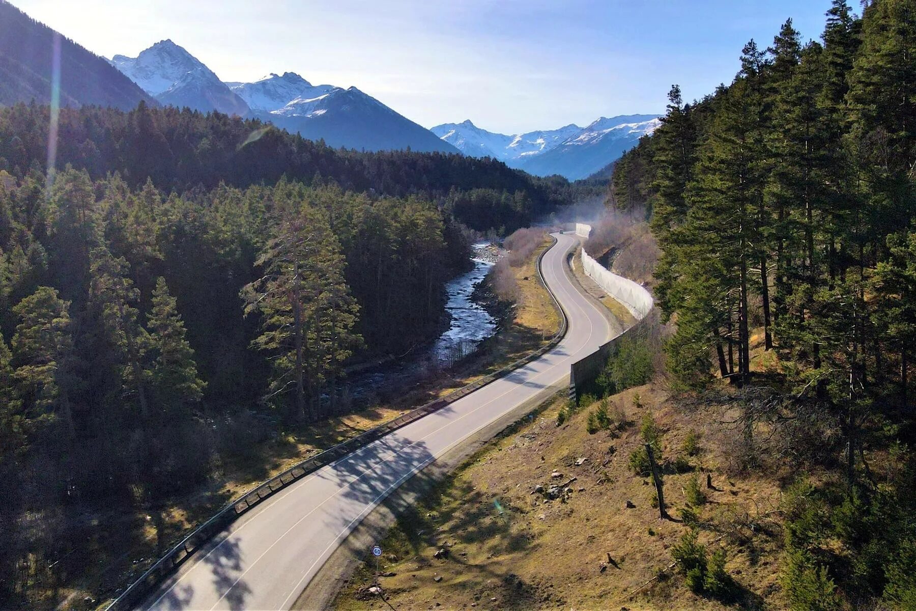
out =
[(271, 496), (198, 551), (140, 608), (288, 609), (338, 545), (378, 503), (437, 456), (547, 387), (610, 339), (594, 301), (567, 275), (578, 244), (554, 234), (541, 272), (569, 319), (562, 342), (540, 359), (393, 431)]

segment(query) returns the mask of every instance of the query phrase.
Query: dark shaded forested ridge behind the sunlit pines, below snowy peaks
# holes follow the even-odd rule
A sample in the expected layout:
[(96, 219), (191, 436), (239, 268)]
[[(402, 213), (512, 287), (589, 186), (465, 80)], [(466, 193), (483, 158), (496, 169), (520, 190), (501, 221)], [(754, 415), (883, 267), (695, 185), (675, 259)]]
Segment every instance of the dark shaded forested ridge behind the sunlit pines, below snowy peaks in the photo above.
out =
[[(49, 125), (48, 106), (0, 108), (0, 169), (20, 178), (30, 169), (43, 172)], [(286, 176), (307, 184), (333, 180), (344, 191), (398, 197), (444, 199), (451, 191), (459, 220), (481, 231), (505, 225), (509, 232), (572, 202), (581, 191), (561, 177), (537, 179), (494, 159), (409, 150), (362, 153), (292, 136), (260, 121), (189, 109), (64, 108), (58, 125), (57, 168), (71, 164), (93, 180), (119, 172), (132, 188), (147, 179), (165, 191), (213, 189), (220, 183), (247, 187)], [(481, 189), (488, 191), (488, 203), (502, 206), (496, 216), (462, 213), (465, 198), (458, 193)], [(481, 193), (470, 200), (480, 202)], [(504, 200), (514, 203), (503, 205)]]

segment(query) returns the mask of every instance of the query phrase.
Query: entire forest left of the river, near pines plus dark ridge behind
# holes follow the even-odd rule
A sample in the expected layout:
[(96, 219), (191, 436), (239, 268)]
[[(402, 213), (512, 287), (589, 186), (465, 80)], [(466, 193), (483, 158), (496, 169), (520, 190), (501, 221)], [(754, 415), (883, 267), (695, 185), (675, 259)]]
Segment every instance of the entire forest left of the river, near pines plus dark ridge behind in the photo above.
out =
[(93, 512), (350, 409), (347, 366), (440, 332), (469, 227), (597, 189), (146, 104), (61, 109), (49, 160), (49, 113), (0, 108), (0, 607), (57, 605)]

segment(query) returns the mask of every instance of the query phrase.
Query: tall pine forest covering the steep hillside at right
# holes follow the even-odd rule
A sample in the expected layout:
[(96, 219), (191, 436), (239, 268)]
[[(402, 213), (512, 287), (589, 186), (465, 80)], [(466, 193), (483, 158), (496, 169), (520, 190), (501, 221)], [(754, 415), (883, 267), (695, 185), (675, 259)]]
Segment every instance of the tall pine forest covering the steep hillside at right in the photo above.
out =
[(678, 384), (730, 380), (747, 469), (812, 474), (785, 509), (791, 607), (911, 609), (916, 3), (834, 0), (822, 39), (789, 20), (730, 85), (673, 87), (611, 199), (649, 210)]

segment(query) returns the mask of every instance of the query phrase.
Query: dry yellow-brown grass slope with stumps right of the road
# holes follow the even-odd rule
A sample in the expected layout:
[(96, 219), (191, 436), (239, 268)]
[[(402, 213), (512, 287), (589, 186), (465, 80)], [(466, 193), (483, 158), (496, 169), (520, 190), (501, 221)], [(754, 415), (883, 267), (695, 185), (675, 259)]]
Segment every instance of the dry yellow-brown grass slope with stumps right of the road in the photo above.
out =
[[(474, 456), (382, 542), (387, 556), (380, 570), (394, 573), (380, 578), (388, 602), (365, 595), (376, 579), (370, 564), (354, 574), (337, 608), (782, 608), (772, 560), (781, 540), (774, 511), (779, 487), (771, 479), (725, 475), (723, 448), (733, 431), (719, 422), (727, 414), (684, 411), (660, 383), (611, 401), (611, 412), (622, 411), (629, 422), (622, 431), (589, 435), (588, 409), (557, 428), (557, 399), (529, 425)], [(654, 486), (627, 464), (641, 443), (638, 422), (649, 410), (663, 432), (667, 509), (677, 518), (686, 505), (692, 474), (674, 470), (682, 455), (708, 499), (696, 508), (700, 540), (710, 551), (721, 546), (727, 553), (726, 569), (736, 581), (730, 601), (693, 595), (680, 575), (661, 573), (688, 528), (660, 520)], [(706, 432), (699, 453), (688, 456), (682, 448), (692, 431)], [(705, 487), (707, 473), (714, 489)], [(537, 486), (558, 484), (573, 492), (556, 499), (532, 494)], [(437, 558), (440, 550), (447, 555)], [(608, 564), (608, 554), (616, 566)]]

